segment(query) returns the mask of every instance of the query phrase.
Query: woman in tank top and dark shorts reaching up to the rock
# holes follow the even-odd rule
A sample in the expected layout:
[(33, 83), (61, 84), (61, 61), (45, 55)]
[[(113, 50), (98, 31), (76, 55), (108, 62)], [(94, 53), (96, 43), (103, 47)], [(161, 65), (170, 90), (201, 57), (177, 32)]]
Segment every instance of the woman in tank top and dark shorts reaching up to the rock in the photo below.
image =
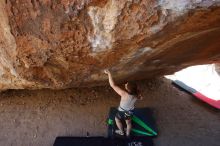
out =
[[(104, 73), (108, 75), (109, 84), (121, 96), (120, 105), (115, 116), (115, 122), (119, 130), (116, 130), (115, 133), (119, 135), (125, 135), (130, 137), (131, 132), (131, 117), (134, 110), (134, 105), (137, 99), (142, 99), (142, 96), (139, 94), (137, 85), (133, 82), (127, 82), (125, 84), (125, 90), (121, 89), (119, 86), (115, 85), (111, 72), (105, 70)], [(122, 120), (125, 120), (127, 129), (123, 129)]]

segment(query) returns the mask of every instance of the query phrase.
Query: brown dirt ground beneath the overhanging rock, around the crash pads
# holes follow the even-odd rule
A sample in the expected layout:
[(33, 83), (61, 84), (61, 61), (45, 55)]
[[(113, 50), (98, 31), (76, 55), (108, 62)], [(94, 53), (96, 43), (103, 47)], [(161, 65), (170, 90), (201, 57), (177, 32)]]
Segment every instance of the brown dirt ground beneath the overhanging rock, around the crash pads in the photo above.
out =
[[(220, 112), (179, 91), (166, 79), (138, 83), (154, 110), (156, 146), (218, 146)], [(0, 145), (50, 146), (57, 136), (106, 136), (106, 116), (119, 97), (109, 87), (8, 90), (0, 94)]]

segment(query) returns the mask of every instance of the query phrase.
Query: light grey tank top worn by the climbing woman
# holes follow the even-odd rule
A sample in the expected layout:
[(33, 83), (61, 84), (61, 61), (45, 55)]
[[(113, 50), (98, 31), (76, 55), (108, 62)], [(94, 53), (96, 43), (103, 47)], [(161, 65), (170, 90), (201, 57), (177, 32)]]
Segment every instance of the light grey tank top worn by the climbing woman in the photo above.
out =
[(134, 95), (127, 94), (127, 97), (122, 98), (118, 107), (119, 111), (129, 111), (134, 109), (134, 104), (137, 98)]

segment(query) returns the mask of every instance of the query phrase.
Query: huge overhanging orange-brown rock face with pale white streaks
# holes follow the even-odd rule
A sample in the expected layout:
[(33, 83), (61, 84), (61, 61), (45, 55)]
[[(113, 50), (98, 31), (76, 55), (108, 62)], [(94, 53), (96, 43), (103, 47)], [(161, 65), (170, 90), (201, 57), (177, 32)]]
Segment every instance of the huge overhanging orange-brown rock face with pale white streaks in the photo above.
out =
[(0, 89), (123, 82), (220, 61), (220, 2), (0, 1)]

